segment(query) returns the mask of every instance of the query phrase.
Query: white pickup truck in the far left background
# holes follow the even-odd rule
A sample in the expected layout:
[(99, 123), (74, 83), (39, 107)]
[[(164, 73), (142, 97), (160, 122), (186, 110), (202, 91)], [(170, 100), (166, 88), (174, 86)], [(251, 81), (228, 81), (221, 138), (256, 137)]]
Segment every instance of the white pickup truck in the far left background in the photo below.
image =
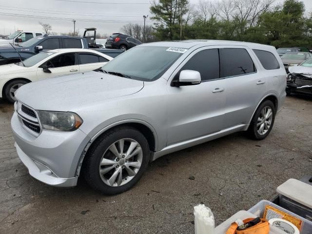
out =
[(45, 33), (32, 31), (16, 31), (12, 33), (7, 39), (0, 39), (0, 46), (10, 46), (10, 43), (14, 45), (20, 45), (22, 42), (43, 35), (45, 35)]

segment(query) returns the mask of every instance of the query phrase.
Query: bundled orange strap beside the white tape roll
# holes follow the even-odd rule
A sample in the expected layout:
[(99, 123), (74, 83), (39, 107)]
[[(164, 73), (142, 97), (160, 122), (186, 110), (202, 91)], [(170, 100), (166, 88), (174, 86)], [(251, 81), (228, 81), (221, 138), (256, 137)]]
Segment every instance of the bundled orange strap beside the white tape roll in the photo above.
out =
[[(246, 218), (243, 222), (246, 224), (252, 220), (254, 220), (254, 218)], [(270, 232), (269, 222), (264, 218), (261, 218), (260, 223), (245, 230), (238, 231), (237, 228), (237, 223), (232, 223), (230, 228), (226, 231), (226, 234), (269, 234)]]

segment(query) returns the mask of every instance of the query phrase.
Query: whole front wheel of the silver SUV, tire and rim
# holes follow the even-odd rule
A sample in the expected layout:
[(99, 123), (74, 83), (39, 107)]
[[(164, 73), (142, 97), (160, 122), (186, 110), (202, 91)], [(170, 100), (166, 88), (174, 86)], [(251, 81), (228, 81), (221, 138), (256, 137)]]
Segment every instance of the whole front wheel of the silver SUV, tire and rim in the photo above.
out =
[(149, 146), (135, 128), (119, 127), (103, 134), (91, 146), (83, 167), (84, 178), (107, 195), (127, 191), (148, 166)]

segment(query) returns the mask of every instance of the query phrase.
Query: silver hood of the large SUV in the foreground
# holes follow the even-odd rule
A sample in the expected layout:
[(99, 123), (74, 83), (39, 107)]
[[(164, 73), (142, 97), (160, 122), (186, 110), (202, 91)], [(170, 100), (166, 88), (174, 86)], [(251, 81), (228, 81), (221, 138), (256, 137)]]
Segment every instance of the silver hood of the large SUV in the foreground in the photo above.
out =
[(36, 110), (66, 112), (137, 93), (143, 86), (143, 81), (91, 71), (32, 82), (15, 96)]

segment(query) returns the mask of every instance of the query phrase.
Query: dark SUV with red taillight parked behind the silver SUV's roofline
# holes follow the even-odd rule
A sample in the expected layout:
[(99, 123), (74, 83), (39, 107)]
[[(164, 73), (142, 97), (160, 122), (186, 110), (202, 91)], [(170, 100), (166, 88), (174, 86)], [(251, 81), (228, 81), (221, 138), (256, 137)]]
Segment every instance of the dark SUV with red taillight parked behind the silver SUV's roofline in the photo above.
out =
[(113, 33), (112, 36), (106, 40), (105, 48), (128, 50), (140, 44), (142, 44), (142, 42), (132, 36), (121, 33)]

